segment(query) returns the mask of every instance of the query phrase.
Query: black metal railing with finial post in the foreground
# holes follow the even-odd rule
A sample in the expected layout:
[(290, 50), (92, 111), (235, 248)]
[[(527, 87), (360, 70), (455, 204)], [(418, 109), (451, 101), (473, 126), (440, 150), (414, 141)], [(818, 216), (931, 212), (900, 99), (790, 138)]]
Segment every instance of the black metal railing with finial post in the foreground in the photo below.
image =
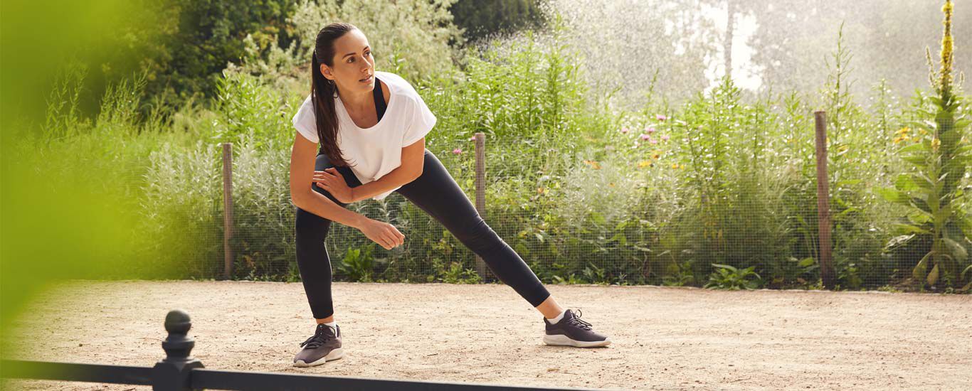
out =
[(187, 335), (189, 313), (165, 315), (165, 358), (155, 367), (130, 367), (31, 360), (0, 360), (0, 377), (39, 380), (151, 385), (153, 390), (581, 390), (583, 388), (519, 387), (446, 381), (378, 379), (358, 376), (290, 375), (267, 372), (207, 370), (191, 356), (195, 342)]

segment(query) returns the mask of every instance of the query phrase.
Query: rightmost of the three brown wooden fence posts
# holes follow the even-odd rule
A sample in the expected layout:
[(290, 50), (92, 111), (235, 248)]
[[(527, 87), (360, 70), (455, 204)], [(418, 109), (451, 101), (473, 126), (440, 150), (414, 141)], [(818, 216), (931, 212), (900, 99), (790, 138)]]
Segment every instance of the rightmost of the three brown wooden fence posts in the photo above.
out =
[(816, 120), (816, 215), (820, 244), (820, 279), (834, 287), (834, 264), (830, 244), (830, 186), (827, 182), (827, 113), (814, 112)]

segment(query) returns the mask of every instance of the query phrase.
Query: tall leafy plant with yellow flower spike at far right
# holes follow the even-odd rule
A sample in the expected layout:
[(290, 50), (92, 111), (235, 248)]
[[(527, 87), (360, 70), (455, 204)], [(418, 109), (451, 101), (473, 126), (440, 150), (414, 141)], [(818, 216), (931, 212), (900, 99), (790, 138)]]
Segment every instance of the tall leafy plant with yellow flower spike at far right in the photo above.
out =
[[(895, 143), (906, 142), (898, 153), (912, 170), (899, 175), (893, 188), (879, 189), (887, 201), (910, 210), (907, 220), (899, 225), (901, 235), (931, 237), (930, 250), (912, 271), (922, 285), (936, 285), (940, 279), (949, 285), (952, 279), (961, 278), (959, 270), (969, 262), (972, 244), (972, 219), (960, 204), (965, 191), (960, 184), (972, 164), (972, 146), (965, 138), (972, 119), (959, 109), (962, 97), (953, 94), (949, 7), (951, 3), (947, 2), (942, 70), (936, 73), (932, 69), (929, 77), (937, 95), (929, 97), (927, 104), (921, 101), (922, 105), (916, 107), (920, 119), (908, 122), (920, 130), (920, 135), (909, 135), (909, 129), (904, 128), (895, 139)], [(917, 139), (914, 144), (907, 143), (913, 138)]]

